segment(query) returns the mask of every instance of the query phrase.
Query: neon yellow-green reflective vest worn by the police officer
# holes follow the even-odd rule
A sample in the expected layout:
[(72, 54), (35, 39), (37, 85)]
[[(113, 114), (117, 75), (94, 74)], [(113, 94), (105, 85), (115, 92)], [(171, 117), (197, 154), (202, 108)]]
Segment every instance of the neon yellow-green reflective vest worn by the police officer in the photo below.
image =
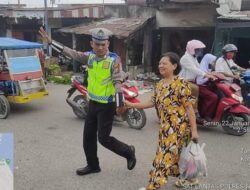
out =
[(115, 87), (111, 69), (115, 59), (108, 56), (97, 62), (95, 57), (95, 54), (90, 54), (88, 59), (88, 96), (100, 103), (114, 102)]

